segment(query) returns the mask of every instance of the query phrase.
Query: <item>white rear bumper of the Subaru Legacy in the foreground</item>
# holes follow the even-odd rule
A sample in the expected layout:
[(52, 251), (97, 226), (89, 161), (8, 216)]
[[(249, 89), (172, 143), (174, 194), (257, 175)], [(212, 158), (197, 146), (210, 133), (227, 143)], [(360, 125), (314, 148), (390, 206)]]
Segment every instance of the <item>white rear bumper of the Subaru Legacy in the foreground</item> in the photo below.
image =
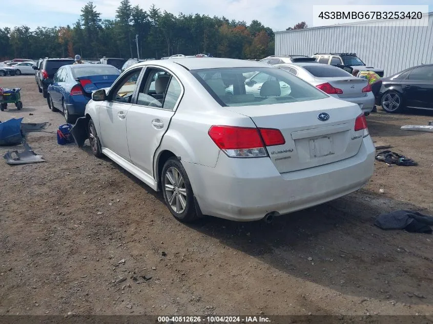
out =
[(184, 162), (201, 212), (233, 221), (256, 221), (345, 196), (373, 175), (375, 147), (363, 139), (357, 155), (279, 174), (269, 158), (234, 159), (220, 153), (214, 168)]

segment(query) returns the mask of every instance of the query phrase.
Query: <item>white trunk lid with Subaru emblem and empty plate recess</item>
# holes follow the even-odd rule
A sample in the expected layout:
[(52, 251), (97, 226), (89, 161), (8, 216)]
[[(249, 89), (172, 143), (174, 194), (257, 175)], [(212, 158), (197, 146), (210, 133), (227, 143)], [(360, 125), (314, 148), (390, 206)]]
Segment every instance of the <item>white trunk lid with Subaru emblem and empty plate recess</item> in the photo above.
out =
[[(280, 130), (285, 144), (266, 147), (280, 173), (350, 158), (362, 143), (363, 131), (354, 130), (362, 111), (357, 104), (339, 99), (224, 108), (250, 117), (257, 127)], [(322, 113), (329, 118), (321, 121)]]

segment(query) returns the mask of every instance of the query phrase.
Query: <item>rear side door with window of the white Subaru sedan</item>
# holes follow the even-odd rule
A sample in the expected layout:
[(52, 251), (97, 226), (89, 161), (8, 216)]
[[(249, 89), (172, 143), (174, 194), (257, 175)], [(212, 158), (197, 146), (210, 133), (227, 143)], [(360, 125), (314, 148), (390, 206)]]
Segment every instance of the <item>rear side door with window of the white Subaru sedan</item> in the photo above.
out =
[(179, 81), (168, 71), (147, 68), (127, 119), (131, 161), (150, 176), (153, 158), (182, 94)]

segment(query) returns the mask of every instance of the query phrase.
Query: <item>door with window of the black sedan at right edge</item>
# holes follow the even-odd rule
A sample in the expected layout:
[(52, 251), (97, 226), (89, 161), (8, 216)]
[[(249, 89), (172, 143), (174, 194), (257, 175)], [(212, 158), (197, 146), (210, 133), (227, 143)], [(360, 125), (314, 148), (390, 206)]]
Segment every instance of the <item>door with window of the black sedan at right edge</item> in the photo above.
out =
[(421, 66), (410, 71), (402, 84), (406, 106), (433, 109), (433, 66)]

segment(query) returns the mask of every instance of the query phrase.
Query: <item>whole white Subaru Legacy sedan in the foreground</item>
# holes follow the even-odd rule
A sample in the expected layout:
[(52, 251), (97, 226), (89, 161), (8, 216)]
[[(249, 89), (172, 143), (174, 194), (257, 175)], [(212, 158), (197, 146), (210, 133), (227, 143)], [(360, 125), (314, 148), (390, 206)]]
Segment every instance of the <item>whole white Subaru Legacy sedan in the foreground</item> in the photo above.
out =
[(360, 189), (375, 159), (358, 104), (225, 58), (135, 64), (93, 92), (72, 134), (162, 190), (183, 222), (271, 221)]

